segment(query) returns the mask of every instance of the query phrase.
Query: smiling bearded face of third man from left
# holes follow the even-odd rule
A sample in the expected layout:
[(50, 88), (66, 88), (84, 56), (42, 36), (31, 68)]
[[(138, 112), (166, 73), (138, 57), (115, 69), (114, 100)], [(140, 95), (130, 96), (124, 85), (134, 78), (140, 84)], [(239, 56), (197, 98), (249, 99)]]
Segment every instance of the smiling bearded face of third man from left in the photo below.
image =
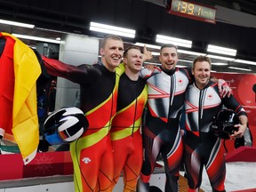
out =
[(173, 70), (178, 62), (178, 53), (176, 47), (164, 47), (159, 56), (162, 68), (166, 71)]

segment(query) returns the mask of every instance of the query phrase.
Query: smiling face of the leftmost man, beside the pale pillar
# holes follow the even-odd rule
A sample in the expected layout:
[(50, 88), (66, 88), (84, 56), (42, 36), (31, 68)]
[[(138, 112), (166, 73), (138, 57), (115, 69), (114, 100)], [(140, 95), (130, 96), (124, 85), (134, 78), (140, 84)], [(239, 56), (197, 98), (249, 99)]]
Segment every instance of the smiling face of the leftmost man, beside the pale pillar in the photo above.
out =
[(120, 64), (124, 51), (124, 43), (120, 39), (108, 38), (100, 48), (101, 61), (109, 71), (115, 71)]

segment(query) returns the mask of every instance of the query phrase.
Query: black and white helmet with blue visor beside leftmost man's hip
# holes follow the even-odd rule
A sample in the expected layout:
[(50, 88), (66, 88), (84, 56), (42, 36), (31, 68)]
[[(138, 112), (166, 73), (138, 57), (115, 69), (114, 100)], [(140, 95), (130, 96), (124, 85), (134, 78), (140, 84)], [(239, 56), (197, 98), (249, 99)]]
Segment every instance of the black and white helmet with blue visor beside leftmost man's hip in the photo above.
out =
[(44, 137), (51, 145), (72, 142), (87, 130), (88, 125), (81, 109), (60, 108), (44, 121)]

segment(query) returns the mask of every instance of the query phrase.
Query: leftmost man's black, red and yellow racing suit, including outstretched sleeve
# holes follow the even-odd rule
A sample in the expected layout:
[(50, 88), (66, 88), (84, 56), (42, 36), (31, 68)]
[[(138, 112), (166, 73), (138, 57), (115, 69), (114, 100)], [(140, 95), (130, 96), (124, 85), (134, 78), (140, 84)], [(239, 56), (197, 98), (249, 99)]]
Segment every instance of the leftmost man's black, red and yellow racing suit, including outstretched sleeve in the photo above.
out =
[(70, 144), (76, 192), (110, 191), (114, 168), (109, 131), (116, 115), (119, 75), (102, 63), (76, 67), (45, 57), (43, 60), (49, 74), (81, 87), (81, 109), (89, 127)]

